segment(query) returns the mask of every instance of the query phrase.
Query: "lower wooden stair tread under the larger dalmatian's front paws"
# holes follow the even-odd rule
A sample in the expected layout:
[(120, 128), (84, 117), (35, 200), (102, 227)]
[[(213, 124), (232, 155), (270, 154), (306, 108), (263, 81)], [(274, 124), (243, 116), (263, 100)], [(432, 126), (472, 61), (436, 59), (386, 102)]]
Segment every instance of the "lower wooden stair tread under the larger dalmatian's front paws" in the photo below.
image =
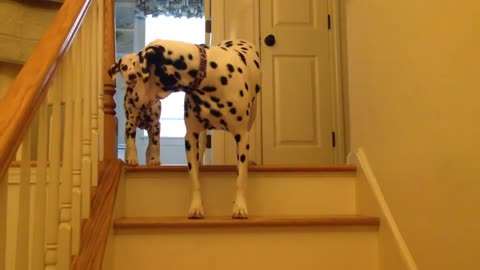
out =
[(238, 227), (327, 227), (327, 226), (374, 226), (380, 219), (362, 215), (285, 216), (249, 217), (207, 217), (188, 219), (186, 217), (132, 217), (114, 221), (115, 229), (161, 229), (161, 228), (238, 228)]

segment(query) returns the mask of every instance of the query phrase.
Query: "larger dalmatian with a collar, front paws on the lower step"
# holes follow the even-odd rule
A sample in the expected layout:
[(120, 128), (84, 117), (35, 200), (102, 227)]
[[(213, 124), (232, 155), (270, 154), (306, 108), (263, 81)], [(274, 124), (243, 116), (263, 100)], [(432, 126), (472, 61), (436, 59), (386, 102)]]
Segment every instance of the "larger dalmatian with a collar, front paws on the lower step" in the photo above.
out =
[[(232, 217), (247, 218), (249, 131), (261, 89), (260, 55), (255, 45), (245, 40), (228, 40), (212, 47), (155, 40), (135, 57), (132, 74), (136, 78), (130, 80), (135, 91), (152, 99), (166, 98), (172, 92), (186, 93), (185, 150), (192, 182), (189, 217), (204, 217), (199, 181), (200, 134), (220, 129), (229, 131), (237, 144), (238, 176)], [(110, 73), (119, 71), (117, 62)]]

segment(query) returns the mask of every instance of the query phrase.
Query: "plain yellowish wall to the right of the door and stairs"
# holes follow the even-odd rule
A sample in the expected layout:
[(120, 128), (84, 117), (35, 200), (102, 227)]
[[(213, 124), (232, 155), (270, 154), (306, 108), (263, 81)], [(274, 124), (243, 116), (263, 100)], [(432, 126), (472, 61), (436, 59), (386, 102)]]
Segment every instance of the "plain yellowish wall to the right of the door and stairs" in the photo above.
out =
[(480, 1), (343, 3), (351, 149), (419, 269), (480, 269)]

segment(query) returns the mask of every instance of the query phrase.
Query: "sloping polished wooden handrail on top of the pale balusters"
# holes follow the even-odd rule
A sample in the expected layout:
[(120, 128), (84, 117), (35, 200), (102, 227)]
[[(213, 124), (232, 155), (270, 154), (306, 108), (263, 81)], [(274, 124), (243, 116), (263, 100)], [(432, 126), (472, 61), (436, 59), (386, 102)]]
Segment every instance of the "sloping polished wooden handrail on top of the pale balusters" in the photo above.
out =
[(0, 176), (6, 173), (92, 2), (65, 0), (5, 97), (0, 100)]

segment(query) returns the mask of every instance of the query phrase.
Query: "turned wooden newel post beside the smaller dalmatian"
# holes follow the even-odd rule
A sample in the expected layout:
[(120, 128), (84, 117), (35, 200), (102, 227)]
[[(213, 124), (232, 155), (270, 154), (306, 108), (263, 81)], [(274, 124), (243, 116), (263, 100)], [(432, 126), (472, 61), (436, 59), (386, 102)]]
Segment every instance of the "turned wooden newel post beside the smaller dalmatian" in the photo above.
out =
[(104, 159), (117, 158), (117, 118), (115, 117), (115, 81), (108, 68), (115, 62), (115, 1), (104, 0), (103, 94), (104, 94)]

